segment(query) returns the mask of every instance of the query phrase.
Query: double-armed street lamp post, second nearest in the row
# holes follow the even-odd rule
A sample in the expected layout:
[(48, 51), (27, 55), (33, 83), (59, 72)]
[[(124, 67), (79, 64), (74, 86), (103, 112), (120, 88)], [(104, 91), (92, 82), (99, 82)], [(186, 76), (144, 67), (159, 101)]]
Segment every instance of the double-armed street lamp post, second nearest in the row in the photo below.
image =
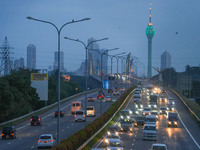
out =
[(81, 44), (83, 44), (85, 50), (86, 50), (86, 62), (85, 62), (85, 69), (86, 69), (86, 75), (85, 75), (85, 126), (86, 126), (86, 121), (87, 121), (87, 77), (88, 77), (88, 69), (87, 69), (87, 66), (88, 66), (88, 47), (90, 44), (94, 43), (94, 42), (99, 42), (99, 41), (103, 41), (103, 40), (108, 40), (108, 38), (103, 38), (103, 39), (100, 39), (100, 40), (94, 40), (94, 41), (91, 41), (90, 43), (88, 43), (87, 45), (83, 42), (83, 41), (80, 41), (79, 39), (72, 39), (72, 38), (68, 38), (68, 37), (64, 37), (65, 39), (67, 40), (71, 40), (71, 41), (75, 41), (75, 42), (79, 42)]

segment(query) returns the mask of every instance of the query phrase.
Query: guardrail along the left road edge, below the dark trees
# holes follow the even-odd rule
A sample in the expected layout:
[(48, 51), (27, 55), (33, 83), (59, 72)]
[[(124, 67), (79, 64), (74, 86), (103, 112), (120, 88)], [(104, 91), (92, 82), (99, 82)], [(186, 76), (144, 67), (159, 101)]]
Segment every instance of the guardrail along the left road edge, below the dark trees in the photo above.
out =
[[(90, 91), (88, 91), (88, 93), (92, 93), (92, 92), (95, 92), (95, 91), (98, 91), (98, 90), (99, 90), (99, 89), (90, 90)], [(72, 96), (70, 96), (70, 97), (67, 97), (67, 98), (65, 98), (65, 99), (60, 100), (60, 103), (62, 104), (62, 103), (64, 103), (64, 102), (66, 102), (66, 101), (69, 101), (70, 99), (73, 99), (73, 98), (75, 98), (75, 97), (79, 97), (79, 96), (84, 95), (84, 94), (85, 94), (85, 92), (81, 92), (81, 93), (78, 93), (78, 94), (76, 94), (76, 95), (72, 95)], [(21, 120), (21, 119), (26, 118), (26, 117), (29, 117), (29, 116), (31, 116), (31, 115), (33, 115), (33, 114), (35, 114), (35, 113), (40, 113), (40, 112), (43, 112), (43, 111), (45, 111), (45, 110), (47, 111), (47, 110), (49, 110), (49, 109), (55, 107), (55, 106), (57, 105), (57, 103), (58, 103), (58, 102), (55, 102), (55, 103), (53, 103), (53, 104), (51, 104), (51, 105), (49, 105), (49, 106), (46, 106), (46, 107), (43, 107), (43, 108), (41, 108), (41, 109), (32, 111), (32, 112), (30, 112), (30, 113), (28, 113), (28, 114), (26, 114), (26, 115), (20, 116), (20, 117), (18, 117), (18, 118), (15, 118), (15, 119), (12, 119), (12, 120), (3, 122), (3, 123), (0, 123), (0, 126), (4, 126), (4, 125), (6, 125), (6, 124), (9, 124), (9, 123), (12, 123), (12, 122)]]

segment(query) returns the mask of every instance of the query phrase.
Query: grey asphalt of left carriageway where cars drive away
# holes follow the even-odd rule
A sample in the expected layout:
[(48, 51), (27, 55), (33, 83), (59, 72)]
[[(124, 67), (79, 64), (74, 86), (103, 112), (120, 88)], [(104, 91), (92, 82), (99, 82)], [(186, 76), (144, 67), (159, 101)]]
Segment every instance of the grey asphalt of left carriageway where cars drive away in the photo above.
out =
[[(108, 95), (107, 91), (105, 92)], [(97, 92), (88, 94), (89, 96), (97, 96)], [(113, 97), (113, 100), (116, 100), (117, 96)], [(64, 117), (60, 118), (60, 139), (66, 139), (73, 133), (85, 127), (85, 122), (75, 122), (74, 116), (71, 115), (70, 106), (72, 101), (81, 101), (85, 104), (85, 97), (78, 97), (76, 99), (70, 100), (61, 104), (61, 109), (64, 111)], [(113, 102), (103, 101), (103, 112), (106, 111)], [(88, 106), (94, 106), (96, 109), (95, 117), (87, 117), (87, 124), (91, 123), (94, 119), (100, 115), (100, 100), (95, 100), (95, 102), (88, 102)], [(41, 126), (31, 126), (30, 120), (26, 120), (20, 124), (15, 125), (16, 127), (16, 139), (6, 139), (0, 140), (0, 149), (1, 150), (26, 150), (26, 149), (37, 149), (37, 140), (41, 134), (53, 134), (56, 137), (57, 129), (57, 118), (55, 118), (54, 113), (57, 108), (53, 108), (43, 114), (41, 117)]]

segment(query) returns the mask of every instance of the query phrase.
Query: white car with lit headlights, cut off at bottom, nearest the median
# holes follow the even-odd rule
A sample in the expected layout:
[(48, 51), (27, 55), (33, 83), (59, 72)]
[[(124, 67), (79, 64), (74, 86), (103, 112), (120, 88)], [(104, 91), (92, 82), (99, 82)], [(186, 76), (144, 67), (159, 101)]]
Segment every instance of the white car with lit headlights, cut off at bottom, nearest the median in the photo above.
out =
[(121, 140), (116, 139), (108, 143), (106, 150), (124, 150), (124, 144)]

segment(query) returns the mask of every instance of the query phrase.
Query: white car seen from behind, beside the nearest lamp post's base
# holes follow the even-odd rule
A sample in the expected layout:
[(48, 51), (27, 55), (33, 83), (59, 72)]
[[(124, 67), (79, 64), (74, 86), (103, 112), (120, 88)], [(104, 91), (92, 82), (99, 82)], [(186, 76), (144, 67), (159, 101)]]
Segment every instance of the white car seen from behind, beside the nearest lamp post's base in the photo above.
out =
[(38, 139), (38, 149), (39, 148), (51, 148), (55, 144), (55, 139), (52, 134), (42, 134)]

